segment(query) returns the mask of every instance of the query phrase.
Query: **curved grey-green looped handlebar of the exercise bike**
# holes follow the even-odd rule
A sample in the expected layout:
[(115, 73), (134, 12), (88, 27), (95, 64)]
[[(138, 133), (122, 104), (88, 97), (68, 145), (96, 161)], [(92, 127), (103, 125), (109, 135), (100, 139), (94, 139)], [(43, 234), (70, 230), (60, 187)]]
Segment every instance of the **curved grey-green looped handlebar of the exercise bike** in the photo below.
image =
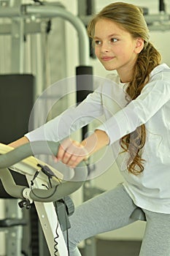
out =
[[(8, 167), (15, 165), (26, 157), (37, 154), (57, 155), (60, 143), (53, 141), (35, 141), (26, 143), (12, 151), (0, 156), (0, 178), (4, 189), (12, 197), (23, 198), (24, 186), (15, 184)], [(31, 189), (30, 197), (34, 201), (54, 202), (66, 195), (70, 195), (79, 189), (88, 176), (88, 168), (85, 162), (81, 162), (74, 168), (74, 177), (70, 181), (62, 182), (50, 189)]]

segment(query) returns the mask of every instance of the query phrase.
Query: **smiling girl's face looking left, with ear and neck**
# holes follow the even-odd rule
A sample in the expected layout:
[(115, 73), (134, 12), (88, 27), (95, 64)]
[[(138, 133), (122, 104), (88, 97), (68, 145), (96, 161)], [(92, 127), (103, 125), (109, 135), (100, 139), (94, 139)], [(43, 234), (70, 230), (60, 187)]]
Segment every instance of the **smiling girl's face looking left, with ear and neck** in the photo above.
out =
[(144, 46), (144, 40), (134, 39), (128, 31), (107, 19), (96, 22), (93, 40), (96, 57), (104, 68), (116, 69), (123, 83), (131, 80), (134, 64)]

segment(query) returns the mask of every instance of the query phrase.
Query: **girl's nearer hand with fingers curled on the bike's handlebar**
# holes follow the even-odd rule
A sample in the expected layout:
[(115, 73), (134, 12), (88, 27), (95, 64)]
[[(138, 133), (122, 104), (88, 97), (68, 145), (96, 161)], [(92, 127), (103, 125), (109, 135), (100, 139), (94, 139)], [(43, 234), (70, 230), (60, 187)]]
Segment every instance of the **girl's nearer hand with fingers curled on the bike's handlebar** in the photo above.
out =
[(88, 151), (81, 143), (70, 138), (63, 140), (58, 148), (57, 160), (70, 167), (76, 167), (82, 160), (88, 159)]

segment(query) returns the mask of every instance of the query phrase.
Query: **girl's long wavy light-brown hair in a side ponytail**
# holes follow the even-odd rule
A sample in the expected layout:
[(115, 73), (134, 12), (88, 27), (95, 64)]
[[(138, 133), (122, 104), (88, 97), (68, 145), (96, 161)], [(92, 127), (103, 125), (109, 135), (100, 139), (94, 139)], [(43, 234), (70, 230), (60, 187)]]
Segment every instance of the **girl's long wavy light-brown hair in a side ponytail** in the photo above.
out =
[[(98, 12), (88, 24), (88, 35), (93, 39), (96, 22), (101, 19), (109, 19), (128, 31), (133, 38), (144, 39), (144, 48), (139, 53), (134, 65), (133, 80), (128, 83), (126, 93), (130, 99), (136, 99), (141, 94), (144, 85), (150, 80), (150, 72), (161, 62), (161, 55), (149, 41), (149, 29), (144, 20), (144, 15), (139, 7), (134, 4), (115, 2), (104, 7)], [(114, 131), (113, 131), (114, 132)], [(127, 151), (129, 159), (128, 171), (135, 175), (144, 170), (144, 159), (142, 159), (142, 148), (146, 141), (146, 129), (144, 124), (137, 127), (134, 132), (120, 139), (120, 146)]]

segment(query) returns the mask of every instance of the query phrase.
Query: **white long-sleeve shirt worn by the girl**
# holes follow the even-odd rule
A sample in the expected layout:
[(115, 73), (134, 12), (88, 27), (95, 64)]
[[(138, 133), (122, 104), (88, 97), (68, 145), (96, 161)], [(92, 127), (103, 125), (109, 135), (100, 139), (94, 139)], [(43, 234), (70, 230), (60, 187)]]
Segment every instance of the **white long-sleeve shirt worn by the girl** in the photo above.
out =
[(66, 110), (26, 137), (30, 141), (58, 141), (101, 116), (105, 121), (98, 129), (107, 132), (114, 152), (120, 151), (120, 138), (145, 124), (144, 171), (138, 176), (128, 173), (126, 153), (117, 156), (117, 165), (125, 178), (124, 187), (137, 206), (170, 214), (170, 68), (166, 64), (155, 67), (150, 82), (128, 105), (123, 84), (102, 80), (77, 108)]

